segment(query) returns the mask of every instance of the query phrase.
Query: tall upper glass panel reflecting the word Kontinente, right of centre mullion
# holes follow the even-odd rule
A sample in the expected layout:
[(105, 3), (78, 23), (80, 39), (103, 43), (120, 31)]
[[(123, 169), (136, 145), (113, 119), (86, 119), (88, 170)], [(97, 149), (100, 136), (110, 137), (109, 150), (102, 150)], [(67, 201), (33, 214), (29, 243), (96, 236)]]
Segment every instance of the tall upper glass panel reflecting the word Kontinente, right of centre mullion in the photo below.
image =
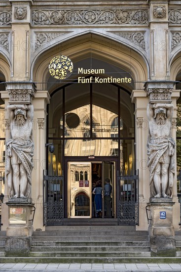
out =
[(93, 137), (118, 137), (118, 89), (111, 84), (93, 84)]

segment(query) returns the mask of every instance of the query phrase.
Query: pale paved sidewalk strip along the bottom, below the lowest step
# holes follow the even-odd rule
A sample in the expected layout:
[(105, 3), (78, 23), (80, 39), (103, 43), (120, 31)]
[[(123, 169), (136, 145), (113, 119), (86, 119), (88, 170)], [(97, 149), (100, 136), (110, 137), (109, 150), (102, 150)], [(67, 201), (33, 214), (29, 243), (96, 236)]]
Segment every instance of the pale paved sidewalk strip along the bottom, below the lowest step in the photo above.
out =
[(0, 272), (181, 272), (181, 264), (0, 264)]

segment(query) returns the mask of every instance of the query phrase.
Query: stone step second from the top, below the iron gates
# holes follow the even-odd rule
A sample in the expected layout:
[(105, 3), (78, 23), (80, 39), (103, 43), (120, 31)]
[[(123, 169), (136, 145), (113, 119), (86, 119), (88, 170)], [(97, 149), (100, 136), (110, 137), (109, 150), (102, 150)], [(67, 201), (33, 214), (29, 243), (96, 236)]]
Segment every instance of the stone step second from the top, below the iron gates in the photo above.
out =
[(147, 231), (126, 231), (126, 230), (63, 230), (63, 231), (34, 231), (33, 236), (143, 236), (148, 235)]

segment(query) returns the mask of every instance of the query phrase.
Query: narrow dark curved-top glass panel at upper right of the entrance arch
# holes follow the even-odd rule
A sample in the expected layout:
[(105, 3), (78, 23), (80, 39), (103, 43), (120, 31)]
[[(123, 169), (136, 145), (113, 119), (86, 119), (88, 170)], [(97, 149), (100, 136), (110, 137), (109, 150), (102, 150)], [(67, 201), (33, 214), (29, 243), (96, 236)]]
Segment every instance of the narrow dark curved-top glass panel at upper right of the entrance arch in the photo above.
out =
[(134, 137), (134, 104), (130, 94), (120, 90), (121, 137)]

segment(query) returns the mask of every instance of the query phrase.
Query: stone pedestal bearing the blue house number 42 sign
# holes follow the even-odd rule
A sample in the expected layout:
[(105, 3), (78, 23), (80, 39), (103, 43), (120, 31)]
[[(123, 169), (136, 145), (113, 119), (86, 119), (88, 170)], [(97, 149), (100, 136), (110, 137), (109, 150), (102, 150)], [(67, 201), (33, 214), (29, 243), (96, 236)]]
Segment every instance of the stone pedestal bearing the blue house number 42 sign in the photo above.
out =
[(149, 238), (152, 256), (175, 256), (176, 241), (173, 227), (172, 198), (150, 198)]

